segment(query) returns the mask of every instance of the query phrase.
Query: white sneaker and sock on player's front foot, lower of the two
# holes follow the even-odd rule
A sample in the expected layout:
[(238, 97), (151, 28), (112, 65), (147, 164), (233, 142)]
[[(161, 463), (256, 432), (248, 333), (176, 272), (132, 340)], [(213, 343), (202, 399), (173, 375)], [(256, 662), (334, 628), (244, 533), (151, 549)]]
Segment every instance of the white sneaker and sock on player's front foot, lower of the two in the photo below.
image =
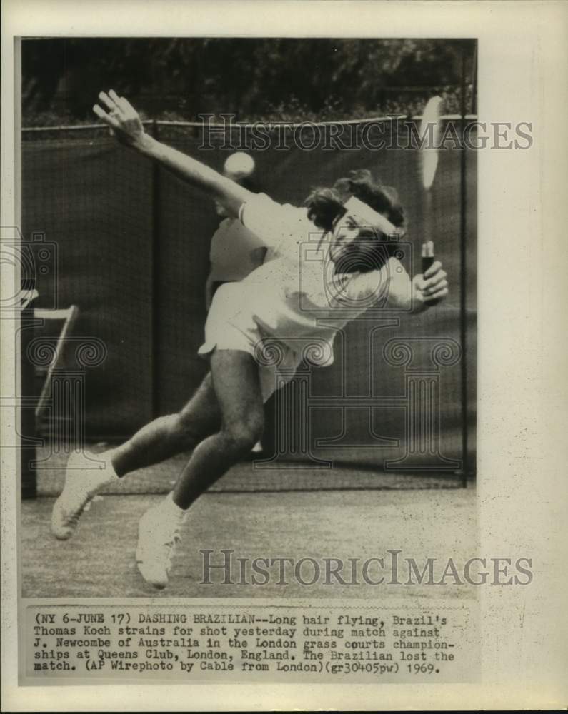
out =
[(161, 505), (150, 508), (140, 519), (136, 565), (146, 583), (159, 590), (168, 584), (181, 523), (181, 516), (169, 513)]

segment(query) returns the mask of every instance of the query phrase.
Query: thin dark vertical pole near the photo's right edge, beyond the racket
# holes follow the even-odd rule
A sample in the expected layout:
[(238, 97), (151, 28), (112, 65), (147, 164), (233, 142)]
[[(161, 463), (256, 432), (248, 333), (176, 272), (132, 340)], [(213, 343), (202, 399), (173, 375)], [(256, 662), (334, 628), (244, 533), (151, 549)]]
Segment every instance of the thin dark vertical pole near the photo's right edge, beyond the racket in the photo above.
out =
[[(467, 44), (462, 49), (462, 88), (461, 107), (462, 138), (465, 130), (466, 114), (466, 62)], [(462, 382), (462, 486), (467, 487), (469, 475), (468, 455), (468, 393), (467, 393), (467, 153), (462, 146), (459, 161), (459, 338), (462, 345), (461, 382)]]

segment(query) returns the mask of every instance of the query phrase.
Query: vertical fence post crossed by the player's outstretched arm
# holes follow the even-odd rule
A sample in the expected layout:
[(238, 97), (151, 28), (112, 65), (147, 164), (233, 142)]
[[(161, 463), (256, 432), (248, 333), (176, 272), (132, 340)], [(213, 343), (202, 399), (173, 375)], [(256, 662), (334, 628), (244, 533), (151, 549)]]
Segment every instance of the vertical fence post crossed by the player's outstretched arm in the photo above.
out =
[[(158, 122), (152, 121), (151, 133), (156, 141), (159, 139)], [(160, 208), (161, 208), (161, 186), (160, 167), (154, 161), (152, 164), (152, 264), (151, 264), (151, 413), (152, 417), (159, 416), (159, 325), (160, 325), (160, 281), (161, 281), (161, 261), (160, 261)]]

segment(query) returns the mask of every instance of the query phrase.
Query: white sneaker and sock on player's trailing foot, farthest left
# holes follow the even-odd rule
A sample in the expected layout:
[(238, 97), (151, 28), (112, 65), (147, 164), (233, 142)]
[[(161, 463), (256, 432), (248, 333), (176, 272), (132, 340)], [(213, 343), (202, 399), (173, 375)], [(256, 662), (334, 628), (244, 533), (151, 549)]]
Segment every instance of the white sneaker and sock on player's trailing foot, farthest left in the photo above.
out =
[(65, 486), (51, 511), (51, 533), (59, 540), (71, 538), (87, 503), (113, 478), (117, 478), (116, 473), (102, 455), (72, 453), (67, 461)]

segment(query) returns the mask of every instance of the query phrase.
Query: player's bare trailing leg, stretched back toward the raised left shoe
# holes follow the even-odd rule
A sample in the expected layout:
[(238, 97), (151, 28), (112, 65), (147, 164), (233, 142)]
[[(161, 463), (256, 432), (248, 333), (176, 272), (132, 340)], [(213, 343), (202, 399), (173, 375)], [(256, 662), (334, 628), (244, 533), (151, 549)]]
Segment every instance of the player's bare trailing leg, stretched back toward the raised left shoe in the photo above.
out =
[(124, 476), (190, 451), (201, 439), (214, 433), (220, 423), (221, 411), (209, 373), (179, 413), (154, 419), (129, 441), (113, 449), (109, 454), (112, 466), (118, 476)]

